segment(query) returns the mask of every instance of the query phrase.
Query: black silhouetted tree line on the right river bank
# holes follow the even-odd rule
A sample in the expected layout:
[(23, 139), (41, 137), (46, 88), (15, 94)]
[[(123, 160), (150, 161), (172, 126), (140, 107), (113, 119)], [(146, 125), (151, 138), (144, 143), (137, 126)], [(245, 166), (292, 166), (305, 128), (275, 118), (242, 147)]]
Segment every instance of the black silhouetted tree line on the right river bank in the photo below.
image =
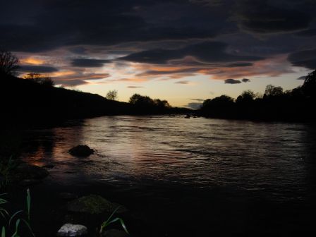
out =
[(315, 95), (316, 70), (293, 90), (267, 85), (264, 95), (246, 90), (237, 99), (227, 95), (206, 99), (197, 114), (223, 119), (314, 121)]

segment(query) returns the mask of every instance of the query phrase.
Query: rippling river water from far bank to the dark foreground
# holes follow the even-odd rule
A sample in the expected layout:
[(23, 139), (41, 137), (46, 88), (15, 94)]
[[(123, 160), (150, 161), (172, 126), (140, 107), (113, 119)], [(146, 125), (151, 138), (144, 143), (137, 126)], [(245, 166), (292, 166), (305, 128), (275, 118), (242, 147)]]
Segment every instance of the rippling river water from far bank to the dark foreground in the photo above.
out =
[[(73, 157), (75, 145), (96, 152)], [(312, 229), (316, 129), (309, 124), (107, 116), (29, 130), (25, 147), (25, 161), (54, 165), (47, 186), (108, 195), (150, 217), (164, 236)], [(178, 232), (186, 217), (192, 226)], [(199, 223), (214, 224), (213, 231), (197, 231)]]

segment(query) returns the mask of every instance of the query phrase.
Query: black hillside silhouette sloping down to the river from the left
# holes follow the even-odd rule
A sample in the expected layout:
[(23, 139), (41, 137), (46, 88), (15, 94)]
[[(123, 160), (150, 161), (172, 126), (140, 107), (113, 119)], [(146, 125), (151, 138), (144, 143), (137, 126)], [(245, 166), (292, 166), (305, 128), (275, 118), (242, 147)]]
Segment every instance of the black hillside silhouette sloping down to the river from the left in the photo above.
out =
[[(1, 120), (17, 125), (49, 125), (66, 119), (85, 119), (107, 115), (174, 114), (189, 109), (150, 107), (118, 102), (100, 95), (48, 86), (34, 80), (1, 75)], [(141, 97), (141, 96), (140, 96)], [(160, 100), (159, 100), (160, 101)]]

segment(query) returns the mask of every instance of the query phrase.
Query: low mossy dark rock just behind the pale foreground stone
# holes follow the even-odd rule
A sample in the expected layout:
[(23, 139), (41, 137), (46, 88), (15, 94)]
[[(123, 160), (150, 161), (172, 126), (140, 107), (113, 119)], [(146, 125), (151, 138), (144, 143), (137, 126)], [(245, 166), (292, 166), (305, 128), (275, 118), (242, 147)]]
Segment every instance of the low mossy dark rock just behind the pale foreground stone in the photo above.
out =
[[(89, 214), (101, 214), (103, 212), (114, 212), (119, 204), (110, 202), (104, 197), (99, 195), (88, 195), (80, 197), (76, 200), (68, 202), (67, 209), (71, 212), (84, 212)], [(117, 213), (126, 212), (125, 207), (121, 207), (117, 210)]]

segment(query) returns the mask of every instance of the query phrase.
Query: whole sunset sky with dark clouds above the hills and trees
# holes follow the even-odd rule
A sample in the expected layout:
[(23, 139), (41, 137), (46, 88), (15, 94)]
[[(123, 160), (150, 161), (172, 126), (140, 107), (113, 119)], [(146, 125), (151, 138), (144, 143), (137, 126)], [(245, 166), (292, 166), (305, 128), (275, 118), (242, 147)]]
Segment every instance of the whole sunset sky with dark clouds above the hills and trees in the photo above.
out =
[(196, 108), (316, 68), (315, 0), (2, 1), (0, 47), (19, 75), (120, 101), (138, 93)]

